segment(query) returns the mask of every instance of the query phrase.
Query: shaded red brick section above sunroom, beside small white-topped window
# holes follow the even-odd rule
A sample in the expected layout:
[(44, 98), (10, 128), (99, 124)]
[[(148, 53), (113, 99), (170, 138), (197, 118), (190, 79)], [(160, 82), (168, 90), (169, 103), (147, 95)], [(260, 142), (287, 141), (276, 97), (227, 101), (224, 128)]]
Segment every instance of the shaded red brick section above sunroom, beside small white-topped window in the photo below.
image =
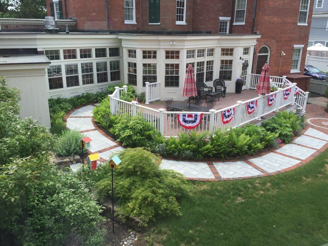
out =
[(219, 32), (219, 17), (231, 17), (234, 0), (193, 0), (192, 30), (212, 30)]

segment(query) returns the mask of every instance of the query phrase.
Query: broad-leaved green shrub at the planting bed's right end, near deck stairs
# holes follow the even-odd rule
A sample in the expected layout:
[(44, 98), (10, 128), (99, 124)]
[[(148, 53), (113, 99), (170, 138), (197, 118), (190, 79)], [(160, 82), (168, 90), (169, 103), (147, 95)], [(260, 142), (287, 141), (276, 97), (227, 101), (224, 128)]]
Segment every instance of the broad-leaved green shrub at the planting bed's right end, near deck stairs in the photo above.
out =
[(293, 112), (279, 112), (275, 117), (268, 119), (262, 123), (262, 126), (270, 132), (277, 133), (279, 138), (290, 143), (293, 136), (302, 128), (301, 123), (305, 120), (300, 118)]

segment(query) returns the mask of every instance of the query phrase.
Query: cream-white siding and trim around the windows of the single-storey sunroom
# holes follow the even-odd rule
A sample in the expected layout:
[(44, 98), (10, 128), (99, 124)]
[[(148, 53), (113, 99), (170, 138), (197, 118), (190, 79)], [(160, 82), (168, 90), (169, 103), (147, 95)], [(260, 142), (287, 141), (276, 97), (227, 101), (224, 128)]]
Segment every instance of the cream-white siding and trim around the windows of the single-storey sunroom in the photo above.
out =
[[(160, 85), (160, 97), (164, 100), (166, 97), (174, 97), (175, 100), (182, 100), (182, 88), (185, 80), (186, 64), (190, 62), (214, 60), (214, 71), (213, 80), (219, 78), (220, 61), (221, 60), (232, 60), (232, 79), (226, 81), (227, 92), (235, 92), (235, 81), (241, 76), (242, 63), (239, 57), (241, 56), (244, 60), (249, 60), (250, 71), (253, 63), (253, 51), (256, 45), (256, 39), (260, 35), (138, 35), (138, 34), (100, 34), (100, 33), (0, 33), (0, 43), (2, 48), (37, 48), (39, 51), (44, 50), (60, 50), (60, 60), (51, 61), (52, 65), (60, 65), (63, 74), (62, 89), (49, 88), (48, 78), (45, 78), (46, 90), (44, 93), (48, 97), (71, 97), (74, 95), (81, 94), (82, 92), (97, 92), (106, 90), (109, 84), (117, 84), (120, 82), (127, 83), (128, 74), (128, 62), (137, 63), (137, 86), (136, 91), (142, 92), (142, 64), (143, 63), (156, 63), (157, 64), (157, 81), (161, 82)], [(175, 44), (170, 44), (171, 42)], [(108, 48), (119, 47), (120, 57), (106, 57), (106, 58), (94, 58), (95, 48)], [(243, 48), (249, 48), (249, 54), (243, 55)], [(79, 58), (79, 49), (91, 48), (93, 58)], [(187, 59), (187, 50), (197, 49), (215, 49), (214, 56), (211, 58), (195, 58)], [(221, 56), (221, 48), (232, 48), (234, 49), (233, 56)], [(77, 59), (63, 59), (63, 49), (76, 49)], [(129, 58), (127, 54), (128, 49), (136, 50), (136, 58)], [(142, 58), (143, 50), (156, 50), (157, 58), (152, 60), (145, 60)], [(180, 51), (179, 59), (167, 60), (165, 59), (165, 51), (177, 50)], [(195, 57), (197, 54), (195, 53)], [(107, 61), (107, 68), (109, 71), (109, 62), (111, 60), (120, 61), (120, 77), (118, 81), (112, 81), (107, 83), (97, 83), (96, 67), (95, 62)], [(82, 74), (81, 66), (82, 62), (93, 63), (93, 78), (94, 84), (82, 85)], [(69, 87), (65, 86), (65, 64), (78, 64), (79, 74), (79, 86)], [(166, 63), (178, 63), (179, 64), (179, 86), (177, 88), (165, 88), (165, 64)], [(110, 77), (110, 73), (108, 73)], [(213, 84), (213, 80), (207, 82), (208, 85)]]

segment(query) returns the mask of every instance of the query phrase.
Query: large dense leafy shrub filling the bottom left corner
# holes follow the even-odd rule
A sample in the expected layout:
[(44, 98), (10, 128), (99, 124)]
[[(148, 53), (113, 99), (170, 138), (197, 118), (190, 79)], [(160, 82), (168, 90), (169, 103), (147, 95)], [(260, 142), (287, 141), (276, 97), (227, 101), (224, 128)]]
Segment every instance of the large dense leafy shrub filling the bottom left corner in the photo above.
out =
[(85, 183), (48, 158), (11, 160), (0, 168), (0, 228), (20, 245), (64, 245), (73, 230), (86, 240), (102, 219)]

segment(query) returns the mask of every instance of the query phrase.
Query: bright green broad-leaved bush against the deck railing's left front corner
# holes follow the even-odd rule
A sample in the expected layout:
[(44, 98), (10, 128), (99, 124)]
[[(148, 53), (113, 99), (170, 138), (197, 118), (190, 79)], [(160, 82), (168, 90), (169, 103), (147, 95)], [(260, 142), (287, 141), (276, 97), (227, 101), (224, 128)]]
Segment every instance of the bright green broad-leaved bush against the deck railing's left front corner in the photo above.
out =
[(115, 135), (117, 141), (122, 142), (122, 145), (142, 147), (146, 145), (146, 140), (151, 140), (156, 129), (142, 116), (121, 115), (109, 131)]

